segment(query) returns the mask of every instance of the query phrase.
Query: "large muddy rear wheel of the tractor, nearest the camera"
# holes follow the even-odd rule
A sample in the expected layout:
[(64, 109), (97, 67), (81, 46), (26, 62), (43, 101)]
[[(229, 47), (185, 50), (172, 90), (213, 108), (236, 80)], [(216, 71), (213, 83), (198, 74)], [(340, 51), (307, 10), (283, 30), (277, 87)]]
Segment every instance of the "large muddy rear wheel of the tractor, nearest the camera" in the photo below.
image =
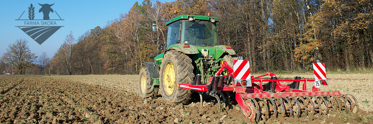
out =
[(194, 80), (192, 60), (184, 53), (170, 50), (164, 53), (160, 66), (160, 92), (164, 101), (188, 104), (191, 90), (178, 87), (179, 83), (192, 83)]

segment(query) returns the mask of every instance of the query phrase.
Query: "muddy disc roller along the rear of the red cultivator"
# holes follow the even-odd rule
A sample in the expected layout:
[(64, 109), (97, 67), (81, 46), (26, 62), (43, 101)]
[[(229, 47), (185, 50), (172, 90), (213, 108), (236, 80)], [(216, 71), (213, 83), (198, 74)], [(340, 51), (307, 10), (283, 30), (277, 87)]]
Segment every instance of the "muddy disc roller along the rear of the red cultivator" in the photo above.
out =
[[(288, 96), (244, 99), (247, 117), (260, 121), (277, 117), (306, 117), (326, 115), (330, 112), (358, 110), (357, 101), (352, 95)], [(242, 110), (241, 110), (242, 111)]]

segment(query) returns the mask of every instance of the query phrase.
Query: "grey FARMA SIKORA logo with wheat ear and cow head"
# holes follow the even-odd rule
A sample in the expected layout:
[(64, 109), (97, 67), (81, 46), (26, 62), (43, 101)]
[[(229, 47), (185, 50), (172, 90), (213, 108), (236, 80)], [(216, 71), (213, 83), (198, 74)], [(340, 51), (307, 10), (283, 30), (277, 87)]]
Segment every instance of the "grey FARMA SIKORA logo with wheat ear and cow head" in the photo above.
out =
[[(23, 26), (16, 26), (16, 27), (21, 29), (28, 36), (34, 39), (38, 44), (41, 45), (50, 36), (52, 36), (54, 32), (56, 32), (58, 29), (63, 27), (63, 26), (54, 26), (54, 25), (57, 25), (56, 20), (64, 20), (64, 19), (61, 19), (61, 17), (57, 14), (56, 11), (53, 12), (53, 9), (51, 8), (51, 6), (53, 6), (54, 3), (53, 4), (38, 3), (38, 4), (41, 6), (41, 8), (39, 9), (39, 13), (43, 12), (43, 15), (44, 15), (43, 19), (39, 19), (39, 17), (35, 19), (35, 7), (33, 7), (31, 4), (30, 7), (28, 7), (28, 19), (21, 19), (23, 13), (25, 13), (25, 11), (23, 11), (22, 15), (16, 20), (24, 20), (24, 24)], [(50, 12), (56, 13), (56, 15), (60, 19), (50, 19), (49, 17)], [(39, 21), (39, 20), (46, 20), (46, 21)], [(41, 25), (41, 26), (37, 26), (37, 25)]]

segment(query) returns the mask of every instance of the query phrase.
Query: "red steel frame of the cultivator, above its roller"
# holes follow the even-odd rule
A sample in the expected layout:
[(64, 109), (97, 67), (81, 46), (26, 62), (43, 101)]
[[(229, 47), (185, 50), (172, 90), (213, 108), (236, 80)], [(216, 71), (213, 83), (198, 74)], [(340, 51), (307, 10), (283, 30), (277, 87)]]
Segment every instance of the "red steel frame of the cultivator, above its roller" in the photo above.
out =
[[(223, 70), (226, 70), (229, 73), (229, 74), (226, 74), (224, 77), (232, 76), (233, 78), (235, 78), (234, 74), (233, 74), (232, 67), (230, 67), (228, 65), (228, 63), (226, 63), (226, 61), (222, 61), (221, 67), (218, 70), (218, 72), (216, 73), (216, 75), (222, 73)], [(312, 91), (307, 91), (306, 82), (307, 81), (315, 81), (314, 79), (311, 79), (311, 80), (308, 80), (308, 79), (298, 79), (298, 80), (295, 80), (295, 79), (294, 80), (278, 80), (278, 79), (276, 79), (276, 80), (263, 80), (263, 79), (257, 79), (257, 80), (253, 80), (253, 79), (256, 79), (256, 78), (259, 78), (259, 77), (263, 77), (263, 76), (276, 76), (276, 75), (273, 74), (273, 73), (268, 73), (268, 74), (264, 74), (262, 76), (253, 77), (252, 80), (251, 80), (251, 85), (252, 86), (242, 87), (242, 86), (234, 86), (234, 85), (224, 85), (224, 86), (217, 87), (217, 90), (218, 91), (233, 91), (235, 93), (238, 93), (236, 95), (237, 96), (239, 95), (241, 97), (236, 97), (236, 99), (237, 98), (247, 99), (247, 98), (257, 98), (257, 97), (264, 98), (264, 97), (282, 97), (282, 96), (286, 97), (286, 96), (302, 96), (302, 95), (338, 95), (338, 94), (341, 94), (339, 91), (319, 92), (320, 89), (316, 88), (315, 86), (312, 87)], [(294, 81), (304, 82), (303, 83), (303, 89), (302, 90), (290, 89), (289, 86), (282, 85), (280, 83), (280, 82), (286, 82), (286, 81), (288, 81), (288, 82), (294, 82)], [(259, 82), (259, 85), (257, 85), (254, 82)], [(264, 92), (263, 87), (261, 85), (263, 82), (276, 82), (276, 88), (275, 88), (276, 93)], [(178, 87), (183, 88), (183, 89), (201, 91), (201, 92), (208, 91), (207, 84), (200, 84), (200, 85), (179, 84)]]

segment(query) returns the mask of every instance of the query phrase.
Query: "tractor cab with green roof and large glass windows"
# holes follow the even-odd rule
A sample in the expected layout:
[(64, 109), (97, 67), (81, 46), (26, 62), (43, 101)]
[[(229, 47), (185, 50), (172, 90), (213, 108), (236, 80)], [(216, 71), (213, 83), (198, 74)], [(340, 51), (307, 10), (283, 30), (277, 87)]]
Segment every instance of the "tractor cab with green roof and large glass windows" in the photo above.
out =
[(166, 47), (169, 48), (174, 44), (196, 47), (219, 45), (216, 22), (218, 19), (210, 16), (180, 15), (173, 18), (166, 22), (168, 26)]

